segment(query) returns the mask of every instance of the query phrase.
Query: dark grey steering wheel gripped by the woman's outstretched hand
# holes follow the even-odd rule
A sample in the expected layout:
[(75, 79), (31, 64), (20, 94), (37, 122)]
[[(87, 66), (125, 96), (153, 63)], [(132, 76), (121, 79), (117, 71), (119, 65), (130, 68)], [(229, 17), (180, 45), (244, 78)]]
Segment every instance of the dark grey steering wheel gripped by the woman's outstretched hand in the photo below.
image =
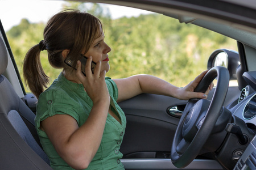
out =
[(212, 101), (190, 99), (183, 111), (171, 148), (171, 160), (177, 168), (186, 167), (199, 155), (216, 124), (228, 92), (228, 69), (222, 66), (213, 67), (194, 90), (207, 91), (216, 77), (217, 85)]

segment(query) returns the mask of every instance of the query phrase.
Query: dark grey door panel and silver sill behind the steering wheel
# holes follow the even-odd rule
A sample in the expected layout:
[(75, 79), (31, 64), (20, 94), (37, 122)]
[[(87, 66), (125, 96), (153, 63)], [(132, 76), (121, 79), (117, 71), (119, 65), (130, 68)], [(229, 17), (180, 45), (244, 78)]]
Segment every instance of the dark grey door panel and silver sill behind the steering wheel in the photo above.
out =
[[(127, 119), (120, 148), (125, 169), (178, 169), (171, 163), (170, 151), (179, 118), (171, 116), (168, 109), (184, 108), (186, 103), (187, 100), (152, 94), (119, 103)], [(209, 165), (211, 169), (223, 169), (216, 160), (205, 158), (195, 159), (185, 169), (209, 169)]]

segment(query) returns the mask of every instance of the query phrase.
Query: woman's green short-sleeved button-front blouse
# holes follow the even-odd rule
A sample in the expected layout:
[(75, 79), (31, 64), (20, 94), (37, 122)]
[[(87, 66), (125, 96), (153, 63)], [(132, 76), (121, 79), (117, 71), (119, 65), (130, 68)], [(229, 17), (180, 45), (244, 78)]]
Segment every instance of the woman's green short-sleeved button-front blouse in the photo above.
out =
[[(110, 114), (106, 119), (100, 147), (89, 167), (86, 169), (124, 169), (119, 151), (125, 133), (126, 118), (117, 104), (117, 85), (110, 78), (105, 78), (110, 94), (110, 107), (121, 120), (121, 124)], [(87, 120), (93, 103), (84, 91), (82, 84), (73, 83), (60, 74), (52, 85), (44, 91), (38, 100), (35, 126), (40, 142), (49, 157), (53, 169), (73, 169), (57, 154), (46, 133), (40, 129), (40, 122), (55, 114), (68, 114), (75, 118), (79, 127)]]

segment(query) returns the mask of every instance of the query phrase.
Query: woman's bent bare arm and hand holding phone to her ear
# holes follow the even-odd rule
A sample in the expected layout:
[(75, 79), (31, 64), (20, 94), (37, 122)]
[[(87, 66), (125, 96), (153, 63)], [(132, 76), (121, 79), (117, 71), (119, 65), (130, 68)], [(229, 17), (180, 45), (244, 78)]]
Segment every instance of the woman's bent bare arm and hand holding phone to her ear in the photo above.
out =
[(80, 128), (77, 121), (67, 114), (56, 114), (41, 122), (42, 130), (57, 153), (75, 169), (87, 168), (93, 159), (100, 146), (108, 116), (110, 96), (105, 82), (106, 72), (100, 72), (100, 67), (101, 63), (98, 63), (92, 74), (89, 73), (90, 66), (86, 65), (88, 71), (84, 76), (79, 71), (81, 63), (77, 63), (76, 75), (93, 101), (89, 117)]

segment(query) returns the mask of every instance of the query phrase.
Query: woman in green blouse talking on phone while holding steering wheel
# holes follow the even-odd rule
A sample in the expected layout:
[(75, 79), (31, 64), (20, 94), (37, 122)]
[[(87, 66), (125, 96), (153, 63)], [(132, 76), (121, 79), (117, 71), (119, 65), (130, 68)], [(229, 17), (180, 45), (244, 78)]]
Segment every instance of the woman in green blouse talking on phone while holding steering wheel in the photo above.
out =
[[(53, 67), (63, 69), (46, 91), (48, 76), (40, 65), (41, 50), (47, 50)], [(193, 92), (207, 71), (184, 88), (151, 75), (106, 78), (110, 50), (100, 20), (85, 12), (63, 11), (49, 20), (44, 40), (26, 54), (24, 78), (39, 99), (35, 125), (53, 169), (123, 169), (119, 148), (126, 119), (119, 101), (142, 93), (184, 100), (207, 97), (208, 91)], [(80, 54), (88, 57), (86, 76), (81, 72)], [(71, 66), (64, 62), (67, 58)], [(92, 61), (97, 62), (94, 73)]]

